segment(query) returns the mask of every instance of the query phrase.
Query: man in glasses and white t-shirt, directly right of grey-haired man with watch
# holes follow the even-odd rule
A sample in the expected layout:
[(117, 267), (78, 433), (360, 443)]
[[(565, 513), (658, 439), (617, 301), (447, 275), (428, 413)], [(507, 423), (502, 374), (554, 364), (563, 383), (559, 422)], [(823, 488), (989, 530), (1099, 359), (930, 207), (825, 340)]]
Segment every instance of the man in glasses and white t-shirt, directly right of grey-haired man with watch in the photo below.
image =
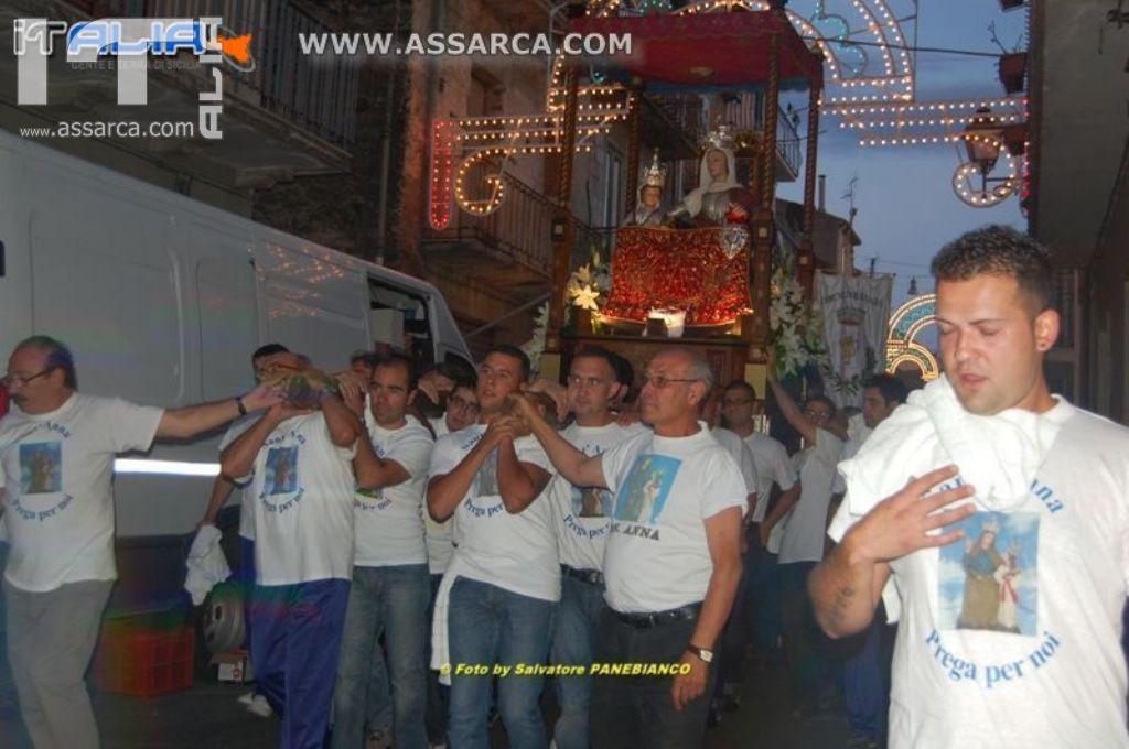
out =
[(753, 456), (753, 465), (756, 466), (756, 505), (752, 517), (746, 519), (749, 550), (742, 584), (745, 587), (756, 658), (764, 663), (778, 662), (782, 658), (780, 581), (777, 555), (768, 548), (768, 534), (762, 534), (764, 517), (768, 514), (772, 487), (780, 491), (778, 503), (793, 505), (799, 497), (799, 482), (796, 467), (784, 444), (754, 429), (753, 415), (758, 407), (756, 390), (745, 380), (735, 380), (725, 388), (721, 396), (721, 423), (745, 441)]

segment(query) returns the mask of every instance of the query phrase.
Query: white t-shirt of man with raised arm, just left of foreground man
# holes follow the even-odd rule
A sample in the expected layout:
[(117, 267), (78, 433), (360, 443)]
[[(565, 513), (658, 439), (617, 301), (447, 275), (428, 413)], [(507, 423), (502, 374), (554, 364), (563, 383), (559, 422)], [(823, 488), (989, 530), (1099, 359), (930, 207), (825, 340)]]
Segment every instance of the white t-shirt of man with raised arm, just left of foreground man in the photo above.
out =
[(780, 539), (780, 564), (819, 562), (823, 558), (831, 481), (835, 476), (835, 465), (842, 449), (842, 440), (826, 430), (817, 429), (815, 444), (796, 455), (799, 499)]

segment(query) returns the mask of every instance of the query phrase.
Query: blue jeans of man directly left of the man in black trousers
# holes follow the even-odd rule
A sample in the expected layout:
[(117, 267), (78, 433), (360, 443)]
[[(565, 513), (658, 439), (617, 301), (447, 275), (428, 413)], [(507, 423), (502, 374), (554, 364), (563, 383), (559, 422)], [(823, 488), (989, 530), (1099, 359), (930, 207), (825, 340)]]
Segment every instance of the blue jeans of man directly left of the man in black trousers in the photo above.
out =
[[(596, 627), (603, 607), (603, 585), (568, 575), (561, 578), (561, 602), (557, 609), (551, 658), (554, 664), (592, 666), (596, 660)], [(557, 749), (587, 749), (592, 677), (560, 676), (553, 680), (561, 708), (553, 729)]]

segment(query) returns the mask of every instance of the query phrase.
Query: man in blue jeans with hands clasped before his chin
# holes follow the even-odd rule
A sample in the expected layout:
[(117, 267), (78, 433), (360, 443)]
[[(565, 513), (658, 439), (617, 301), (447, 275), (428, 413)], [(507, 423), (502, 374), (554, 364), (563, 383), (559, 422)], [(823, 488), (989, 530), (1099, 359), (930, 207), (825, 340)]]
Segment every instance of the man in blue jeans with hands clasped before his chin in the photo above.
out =
[[(530, 360), (515, 346), (490, 350), (479, 369), (479, 422), (440, 438), (431, 456), (428, 510), (455, 516), (455, 555), (436, 603), (432, 664), (450, 677), (453, 747), (485, 747), (493, 672), (498, 712), (511, 747), (545, 746), (539, 697), (543, 678), (513, 672), (549, 655), (560, 567), (552, 506), (542, 494), (549, 459), (520, 418), (507, 415), (510, 395), (530, 377)], [(485, 669), (482, 673), (478, 669)]]

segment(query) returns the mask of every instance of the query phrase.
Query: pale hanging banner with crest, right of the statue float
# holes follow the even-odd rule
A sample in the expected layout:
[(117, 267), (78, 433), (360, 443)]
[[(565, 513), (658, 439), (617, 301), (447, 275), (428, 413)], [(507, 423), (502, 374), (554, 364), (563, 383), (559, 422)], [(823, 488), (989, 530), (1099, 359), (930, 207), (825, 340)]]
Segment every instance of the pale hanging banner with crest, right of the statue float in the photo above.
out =
[(863, 382), (883, 371), (892, 276), (819, 273), (815, 298), (828, 344), (823, 378), (839, 407), (863, 405)]

